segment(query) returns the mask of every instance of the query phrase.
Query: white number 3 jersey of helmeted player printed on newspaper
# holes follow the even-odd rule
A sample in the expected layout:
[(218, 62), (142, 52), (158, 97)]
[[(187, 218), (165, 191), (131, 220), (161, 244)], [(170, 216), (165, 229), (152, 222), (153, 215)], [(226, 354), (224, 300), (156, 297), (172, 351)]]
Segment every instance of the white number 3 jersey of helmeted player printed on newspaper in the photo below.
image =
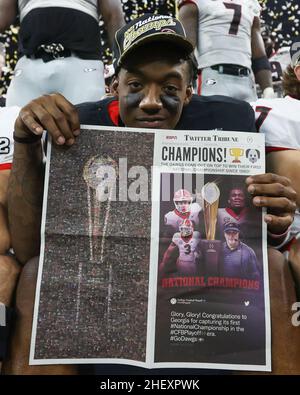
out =
[(172, 242), (178, 247), (179, 262), (195, 263), (197, 257), (199, 256), (199, 232), (194, 232), (190, 239), (181, 237), (181, 234), (177, 232), (173, 235)]

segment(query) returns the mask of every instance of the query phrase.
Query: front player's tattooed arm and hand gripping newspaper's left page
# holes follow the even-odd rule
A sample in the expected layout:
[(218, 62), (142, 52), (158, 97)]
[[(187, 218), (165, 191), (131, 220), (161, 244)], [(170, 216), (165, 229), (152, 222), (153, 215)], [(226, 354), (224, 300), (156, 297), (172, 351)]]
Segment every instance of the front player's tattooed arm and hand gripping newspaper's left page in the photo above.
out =
[(31, 101), (15, 122), (8, 215), (12, 246), (23, 264), (39, 254), (44, 178), (40, 140), (44, 129), (54, 144), (74, 144), (80, 132), (78, 113), (62, 95), (44, 95)]

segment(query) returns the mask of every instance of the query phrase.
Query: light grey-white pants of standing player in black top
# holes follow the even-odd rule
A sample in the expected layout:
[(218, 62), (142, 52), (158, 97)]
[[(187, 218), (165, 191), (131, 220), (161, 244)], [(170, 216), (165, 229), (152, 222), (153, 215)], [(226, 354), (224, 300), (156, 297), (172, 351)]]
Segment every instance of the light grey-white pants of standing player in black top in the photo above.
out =
[(49, 93), (61, 93), (71, 103), (98, 101), (105, 94), (103, 63), (74, 55), (50, 62), (23, 56), (7, 91), (6, 106), (23, 107)]

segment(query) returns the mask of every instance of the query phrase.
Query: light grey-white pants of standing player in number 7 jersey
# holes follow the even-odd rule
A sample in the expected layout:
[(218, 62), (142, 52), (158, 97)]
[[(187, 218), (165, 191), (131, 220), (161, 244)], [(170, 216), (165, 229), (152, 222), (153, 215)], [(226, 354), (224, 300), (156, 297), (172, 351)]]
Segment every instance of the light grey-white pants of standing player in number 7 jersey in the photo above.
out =
[(248, 102), (256, 101), (256, 87), (252, 74), (238, 76), (219, 73), (210, 67), (202, 69), (198, 92), (203, 96), (224, 95)]

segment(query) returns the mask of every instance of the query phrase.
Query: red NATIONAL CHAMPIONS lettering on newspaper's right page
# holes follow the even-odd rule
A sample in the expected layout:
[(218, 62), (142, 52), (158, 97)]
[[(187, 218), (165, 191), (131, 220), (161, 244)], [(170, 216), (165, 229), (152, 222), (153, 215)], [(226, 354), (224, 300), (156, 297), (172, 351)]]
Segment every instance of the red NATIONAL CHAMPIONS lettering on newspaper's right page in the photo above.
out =
[(162, 288), (179, 287), (217, 287), (217, 288), (241, 288), (258, 291), (260, 289), (259, 280), (249, 280), (236, 277), (169, 277), (163, 278)]

